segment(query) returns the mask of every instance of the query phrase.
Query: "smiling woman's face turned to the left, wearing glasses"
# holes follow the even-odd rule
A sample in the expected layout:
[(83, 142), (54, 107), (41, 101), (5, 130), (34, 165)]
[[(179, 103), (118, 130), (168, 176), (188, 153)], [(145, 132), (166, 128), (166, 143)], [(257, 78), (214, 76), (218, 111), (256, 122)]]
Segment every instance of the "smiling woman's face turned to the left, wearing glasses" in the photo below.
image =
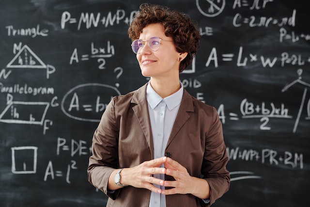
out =
[[(141, 73), (144, 77), (169, 78), (179, 75), (179, 58), (181, 54), (176, 51), (171, 37), (167, 37), (164, 27), (160, 23), (149, 24), (140, 33), (140, 40), (149, 40), (151, 37), (159, 37), (161, 41), (158, 50), (152, 51), (147, 41), (137, 54)], [(183, 57), (183, 56), (182, 56)], [(183, 58), (182, 58), (183, 60)]]

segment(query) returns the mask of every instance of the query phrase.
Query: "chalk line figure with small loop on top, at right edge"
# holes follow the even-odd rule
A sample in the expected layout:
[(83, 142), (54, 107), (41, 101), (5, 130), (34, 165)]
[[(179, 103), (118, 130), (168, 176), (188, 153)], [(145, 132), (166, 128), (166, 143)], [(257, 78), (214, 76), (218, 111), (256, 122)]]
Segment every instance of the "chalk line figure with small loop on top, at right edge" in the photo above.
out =
[[(283, 93), (283, 92), (287, 91), (290, 87), (292, 87), (296, 83), (300, 83), (300, 84), (305, 86), (304, 93), (303, 93), (301, 103), (300, 103), (300, 107), (299, 107), (299, 111), (298, 111), (297, 118), (296, 118), (294, 128), (293, 128), (294, 133), (297, 130), (297, 126), (298, 126), (298, 123), (300, 120), (302, 108), (304, 107), (304, 103), (305, 103), (305, 99), (306, 99), (306, 95), (307, 95), (307, 90), (308, 90), (307, 87), (310, 87), (310, 83), (307, 83), (307, 82), (301, 80), (302, 79), (301, 78), (302, 72), (303, 72), (303, 70), (301, 68), (298, 69), (297, 70), (298, 79), (294, 80), (290, 84), (285, 85), (284, 88), (281, 90), (281, 92)], [(308, 104), (307, 104), (307, 112), (308, 112), (308, 117), (306, 117), (306, 119), (310, 119), (310, 99), (309, 99)]]

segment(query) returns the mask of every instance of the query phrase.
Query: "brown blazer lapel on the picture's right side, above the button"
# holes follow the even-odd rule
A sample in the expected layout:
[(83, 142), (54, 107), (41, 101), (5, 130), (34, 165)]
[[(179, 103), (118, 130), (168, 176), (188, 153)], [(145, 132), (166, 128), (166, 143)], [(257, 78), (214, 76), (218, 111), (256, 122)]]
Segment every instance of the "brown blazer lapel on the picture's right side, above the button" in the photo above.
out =
[(176, 115), (173, 127), (171, 129), (167, 147), (169, 146), (171, 141), (176, 137), (176, 134), (178, 133), (178, 131), (180, 131), (180, 129), (189, 119), (190, 113), (188, 112), (193, 112), (193, 111), (194, 111), (194, 106), (193, 106), (192, 96), (190, 96), (188, 92), (184, 90), (181, 105)]

